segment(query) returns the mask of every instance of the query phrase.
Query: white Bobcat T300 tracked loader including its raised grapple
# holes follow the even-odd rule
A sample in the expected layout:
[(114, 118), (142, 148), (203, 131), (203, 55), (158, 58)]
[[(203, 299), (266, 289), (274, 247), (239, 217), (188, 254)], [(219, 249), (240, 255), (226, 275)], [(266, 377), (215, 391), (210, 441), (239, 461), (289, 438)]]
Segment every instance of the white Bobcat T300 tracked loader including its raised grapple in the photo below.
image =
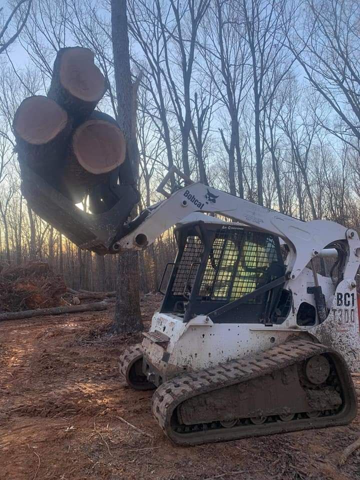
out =
[[(159, 187), (167, 198), (132, 221), (124, 220), (137, 198), (131, 185), (115, 185), (105, 212), (93, 196), (91, 216), (41, 179), (33, 183), (32, 173), (31, 187), (23, 178), (31, 206), (97, 252), (145, 248), (176, 224), (178, 252), (167, 265), (161, 307), (142, 344), (120, 358), (127, 383), (156, 388), (153, 414), (179, 444), (350, 422), (350, 370), (360, 370), (357, 232), (327, 220), (303, 222), (188, 179), (166, 192), (174, 172)], [(56, 209), (61, 215), (51, 221)], [(327, 257), (331, 267), (318, 268)]]

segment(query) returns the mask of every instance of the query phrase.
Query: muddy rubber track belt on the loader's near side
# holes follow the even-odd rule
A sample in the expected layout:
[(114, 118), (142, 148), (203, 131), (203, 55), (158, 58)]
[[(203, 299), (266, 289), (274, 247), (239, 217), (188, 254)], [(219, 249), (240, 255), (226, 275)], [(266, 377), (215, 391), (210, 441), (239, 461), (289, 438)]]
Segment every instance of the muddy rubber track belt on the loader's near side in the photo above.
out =
[[(294, 363), (321, 353), (329, 353), (335, 363), (338, 381), (341, 384), (343, 407), (331, 416), (301, 418), (287, 422), (267, 422), (261, 425), (238, 425), (231, 428), (216, 428), (180, 433), (173, 430), (171, 417), (175, 408), (186, 399), (270, 374)], [(307, 340), (290, 340), (242, 360), (231, 360), (213, 368), (184, 374), (160, 385), (152, 397), (152, 413), (166, 435), (178, 444), (197, 444), (230, 440), (253, 435), (281, 433), (305, 428), (320, 428), (343, 425), (356, 415), (356, 394), (350, 372), (343, 358), (332, 348)], [(219, 418), (218, 420), (221, 420)]]

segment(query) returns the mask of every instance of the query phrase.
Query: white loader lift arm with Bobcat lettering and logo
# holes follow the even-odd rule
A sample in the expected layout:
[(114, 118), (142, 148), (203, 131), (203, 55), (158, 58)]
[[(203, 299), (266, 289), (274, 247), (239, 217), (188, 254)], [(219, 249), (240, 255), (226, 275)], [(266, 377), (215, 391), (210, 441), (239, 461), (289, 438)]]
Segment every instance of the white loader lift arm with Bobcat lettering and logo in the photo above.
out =
[(202, 183), (191, 183), (142, 212), (132, 221), (133, 229), (122, 236), (114, 248), (118, 251), (142, 249), (196, 211), (219, 213), (281, 237), (290, 249), (287, 274), (291, 279), (295, 279), (310, 259), (329, 243), (357, 238), (354, 230), (329, 220), (301, 221)]

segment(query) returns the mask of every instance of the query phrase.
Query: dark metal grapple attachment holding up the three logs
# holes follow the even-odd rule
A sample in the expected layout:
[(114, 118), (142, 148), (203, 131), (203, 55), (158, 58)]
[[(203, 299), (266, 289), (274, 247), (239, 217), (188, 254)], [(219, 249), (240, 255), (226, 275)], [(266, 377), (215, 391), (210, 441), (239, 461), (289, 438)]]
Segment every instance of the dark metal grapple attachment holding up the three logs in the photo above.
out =
[(118, 185), (115, 181), (112, 186), (104, 184), (90, 190), (91, 213), (87, 213), (25, 164), (21, 165), (21, 180), (23, 196), (43, 220), (81, 248), (98, 254), (117, 253), (113, 244), (123, 235), (124, 224), (138, 201), (132, 184)]

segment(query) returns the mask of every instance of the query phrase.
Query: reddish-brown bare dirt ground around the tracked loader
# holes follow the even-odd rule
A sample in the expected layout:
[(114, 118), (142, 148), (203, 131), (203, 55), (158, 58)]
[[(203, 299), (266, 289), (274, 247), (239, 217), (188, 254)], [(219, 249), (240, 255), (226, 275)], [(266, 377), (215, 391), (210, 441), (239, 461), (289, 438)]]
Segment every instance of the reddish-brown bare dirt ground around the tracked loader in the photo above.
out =
[[(145, 326), (158, 302), (142, 300)], [(118, 376), (119, 353), (140, 335), (104, 334), (110, 318), (0, 324), (1, 480), (360, 479), (359, 450), (337, 467), (360, 434), (360, 414), (345, 427), (174, 446), (151, 416), (151, 392), (132, 391)]]

